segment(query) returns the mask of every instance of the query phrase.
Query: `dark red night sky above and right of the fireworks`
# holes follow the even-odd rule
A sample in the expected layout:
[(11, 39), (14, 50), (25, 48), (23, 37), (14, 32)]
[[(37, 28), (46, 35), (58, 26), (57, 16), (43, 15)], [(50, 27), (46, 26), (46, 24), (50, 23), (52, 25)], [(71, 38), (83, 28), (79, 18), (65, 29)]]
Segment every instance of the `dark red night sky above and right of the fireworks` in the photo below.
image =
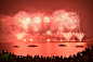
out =
[(1, 13), (9, 16), (15, 15), (18, 11), (26, 11), (28, 13), (44, 12), (51, 14), (53, 11), (58, 9), (64, 9), (66, 11), (79, 11), (81, 32), (85, 33), (85, 36), (93, 37), (92, 0), (0, 0)]

